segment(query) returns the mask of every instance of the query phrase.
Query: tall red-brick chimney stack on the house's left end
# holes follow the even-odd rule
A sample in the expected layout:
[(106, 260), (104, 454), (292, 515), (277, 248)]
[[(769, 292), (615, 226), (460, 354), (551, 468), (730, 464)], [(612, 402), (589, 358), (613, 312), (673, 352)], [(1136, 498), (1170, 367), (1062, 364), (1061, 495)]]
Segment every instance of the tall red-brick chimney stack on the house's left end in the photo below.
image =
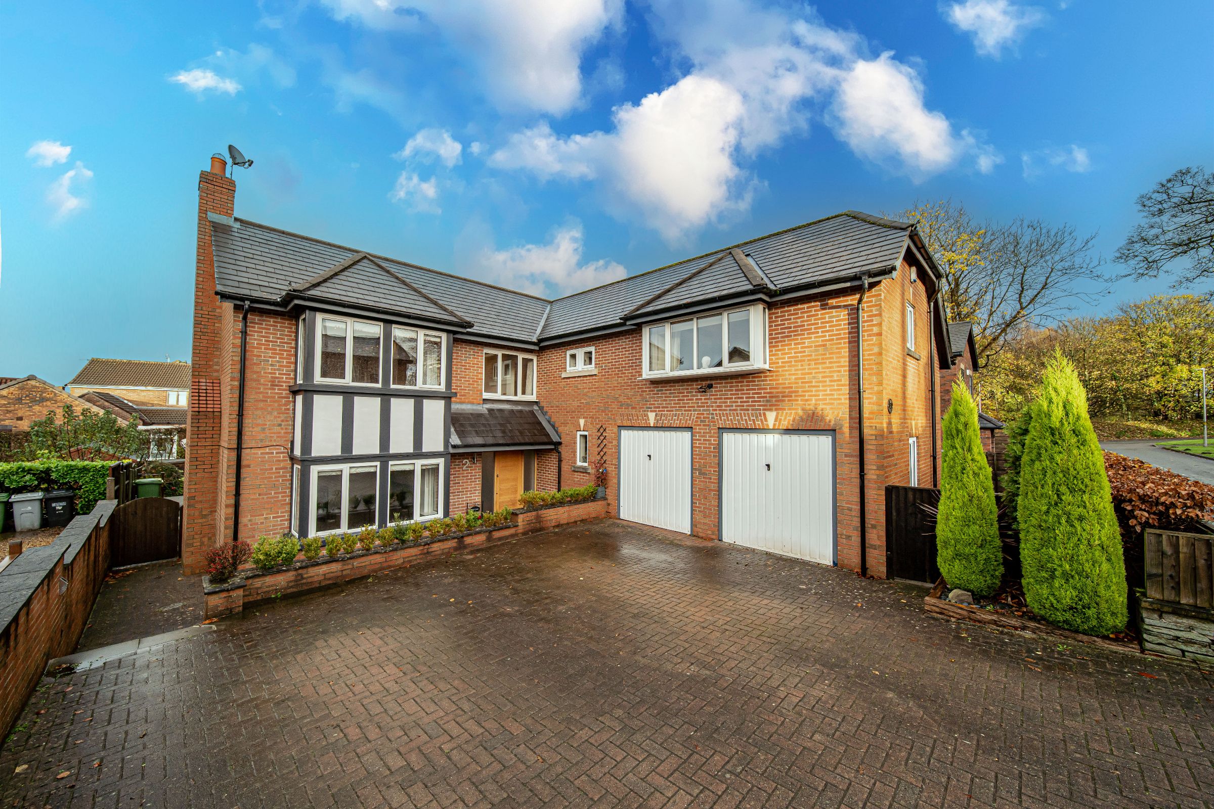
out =
[[(198, 176), (198, 244), (194, 263), (194, 336), (189, 378), (187, 421), (186, 491), (182, 519), (182, 564), (186, 574), (206, 569), (206, 552), (219, 539), (220, 445), (222, 420), (222, 370), (225, 365), (225, 318), (232, 306), (215, 295), (215, 267), (211, 253), (211, 222), (216, 213), (231, 217), (236, 205), (236, 182), (225, 176), (227, 161), (211, 156), (209, 171)], [(231, 323), (227, 324), (231, 327)]]

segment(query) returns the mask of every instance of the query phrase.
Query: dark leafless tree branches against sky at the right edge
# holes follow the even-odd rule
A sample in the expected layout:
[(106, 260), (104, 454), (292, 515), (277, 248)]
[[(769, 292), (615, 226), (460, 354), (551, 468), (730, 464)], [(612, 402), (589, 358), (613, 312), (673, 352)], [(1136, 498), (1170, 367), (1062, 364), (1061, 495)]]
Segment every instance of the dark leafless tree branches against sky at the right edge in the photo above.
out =
[[(1128, 278), (1158, 278), (1189, 258), (1174, 286), (1214, 279), (1214, 173), (1202, 166), (1176, 171), (1136, 200), (1145, 217), (1117, 250)], [(1169, 270), (1172, 272), (1172, 270)]]

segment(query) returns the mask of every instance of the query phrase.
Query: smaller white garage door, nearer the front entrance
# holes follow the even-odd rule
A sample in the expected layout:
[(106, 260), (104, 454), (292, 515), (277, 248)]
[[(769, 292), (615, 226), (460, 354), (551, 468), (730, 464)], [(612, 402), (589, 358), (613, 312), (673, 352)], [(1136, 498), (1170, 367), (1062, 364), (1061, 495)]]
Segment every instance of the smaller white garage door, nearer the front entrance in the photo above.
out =
[(619, 431), (619, 518), (691, 534), (691, 431)]

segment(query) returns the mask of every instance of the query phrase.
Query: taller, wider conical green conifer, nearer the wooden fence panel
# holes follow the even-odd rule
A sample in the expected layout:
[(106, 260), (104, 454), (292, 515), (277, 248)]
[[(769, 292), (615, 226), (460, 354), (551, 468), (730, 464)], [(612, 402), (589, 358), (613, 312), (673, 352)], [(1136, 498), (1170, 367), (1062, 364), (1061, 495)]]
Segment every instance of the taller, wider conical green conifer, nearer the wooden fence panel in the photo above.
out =
[(1125, 626), (1125, 560), (1088, 397), (1061, 353), (1045, 368), (1020, 466), (1020, 563), (1028, 606), (1087, 634)]

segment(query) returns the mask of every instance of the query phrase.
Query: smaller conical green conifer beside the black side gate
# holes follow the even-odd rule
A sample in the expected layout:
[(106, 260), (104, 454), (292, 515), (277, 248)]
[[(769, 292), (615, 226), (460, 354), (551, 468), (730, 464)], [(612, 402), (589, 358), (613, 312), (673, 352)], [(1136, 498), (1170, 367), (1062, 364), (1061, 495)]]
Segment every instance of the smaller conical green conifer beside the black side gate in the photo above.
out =
[(959, 382), (942, 432), (936, 564), (951, 587), (991, 596), (1003, 579), (994, 483), (982, 452), (978, 410)]

